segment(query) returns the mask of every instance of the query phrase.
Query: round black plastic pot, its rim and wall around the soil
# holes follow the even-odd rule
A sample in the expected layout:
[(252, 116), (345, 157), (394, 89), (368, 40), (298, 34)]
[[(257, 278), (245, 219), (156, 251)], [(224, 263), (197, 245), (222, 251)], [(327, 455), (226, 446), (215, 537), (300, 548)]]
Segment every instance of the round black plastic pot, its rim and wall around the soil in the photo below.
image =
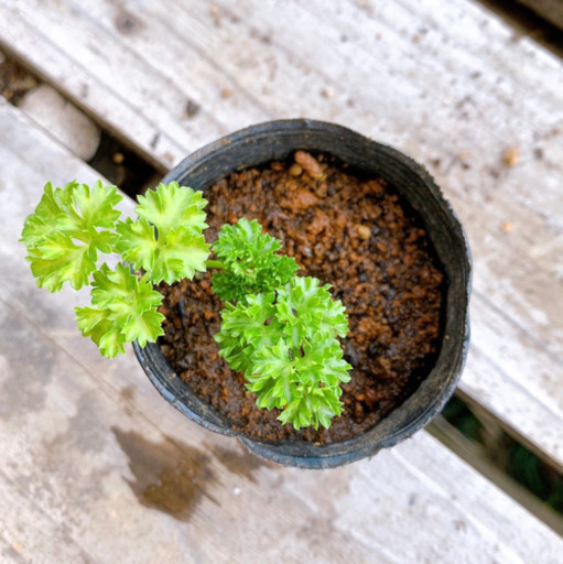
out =
[(205, 191), (235, 170), (283, 160), (297, 149), (331, 153), (373, 177), (383, 177), (419, 214), (446, 274), (445, 314), (439, 358), (419, 389), (386, 419), (362, 434), (315, 446), (307, 442), (267, 444), (230, 429), (226, 419), (191, 393), (174, 376), (156, 345), (137, 356), (152, 383), (183, 414), (204, 427), (239, 438), (249, 451), (275, 463), (301, 468), (329, 468), (390, 447), (434, 417), (461, 377), (469, 341), (470, 256), (463, 228), (431, 176), (399, 151), (346, 128), (311, 120), (261, 123), (227, 135), (185, 159), (163, 182)]

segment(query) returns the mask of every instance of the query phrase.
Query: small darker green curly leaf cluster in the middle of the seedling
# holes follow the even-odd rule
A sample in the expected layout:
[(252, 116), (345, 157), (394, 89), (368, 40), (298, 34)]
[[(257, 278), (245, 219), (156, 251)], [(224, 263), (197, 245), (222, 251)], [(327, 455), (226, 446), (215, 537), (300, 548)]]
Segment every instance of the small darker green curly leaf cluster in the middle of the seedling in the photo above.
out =
[(224, 225), (213, 245), (221, 265), (213, 274), (214, 292), (221, 300), (237, 302), (247, 294), (286, 284), (299, 267), (291, 257), (277, 254), (280, 249), (280, 241), (262, 234), (256, 219), (241, 218), (236, 225)]

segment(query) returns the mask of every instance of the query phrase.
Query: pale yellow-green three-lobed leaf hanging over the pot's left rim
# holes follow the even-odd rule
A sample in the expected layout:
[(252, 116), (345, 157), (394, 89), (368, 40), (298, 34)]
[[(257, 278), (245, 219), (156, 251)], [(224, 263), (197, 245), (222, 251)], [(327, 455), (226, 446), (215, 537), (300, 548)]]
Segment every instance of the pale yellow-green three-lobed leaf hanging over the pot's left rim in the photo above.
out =
[[(121, 199), (115, 186), (100, 181), (93, 187), (48, 183), (21, 237), (40, 288), (91, 286), (91, 305), (76, 308), (78, 328), (109, 358), (124, 352), (126, 343), (144, 346), (163, 334), (162, 295), (153, 284), (193, 278), (209, 256), (201, 192), (161, 184), (139, 196), (136, 221), (119, 220)], [(100, 252), (121, 254), (142, 276), (123, 264), (98, 267)]]

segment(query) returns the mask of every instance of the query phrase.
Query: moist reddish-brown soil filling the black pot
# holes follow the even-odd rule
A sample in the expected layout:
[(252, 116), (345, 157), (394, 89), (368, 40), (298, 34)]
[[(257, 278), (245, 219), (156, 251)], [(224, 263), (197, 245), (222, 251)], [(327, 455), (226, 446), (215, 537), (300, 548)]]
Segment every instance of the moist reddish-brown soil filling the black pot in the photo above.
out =
[(345, 412), (329, 430), (295, 432), (277, 421), (278, 411), (256, 408), (243, 376), (218, 356), (213, 335), (223, 305), (209, 273), (161, 285), (166, 321), (160, 345), (173, 369), (232, 427), (266, 441), (328, 443), (371, 427), (418, 388), (437, 352), (443, 274), (424, 229), (385, 181), (354, 176), (323, 155), (320, 173), (308, 156), (237, 172), (210, 187), (206, 238), (214, 241), (226, 221), (256, 218), (282, 240), (300, 274), (333, 285), (347, 308), (343, 346), (354, 369), (343, 386)]

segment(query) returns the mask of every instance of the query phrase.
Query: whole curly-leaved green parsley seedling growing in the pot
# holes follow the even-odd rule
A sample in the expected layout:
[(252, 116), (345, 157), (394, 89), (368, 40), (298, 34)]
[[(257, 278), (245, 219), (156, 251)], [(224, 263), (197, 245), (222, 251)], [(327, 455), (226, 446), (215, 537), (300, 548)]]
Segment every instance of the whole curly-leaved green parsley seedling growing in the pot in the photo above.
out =
[[(124, 221), (121, 199), (100, 181), (45, 185), (21, 237), (37, 285), (89, 285), (91, 304), (76, 307), (78, 328), (111, 358), (126, 343), (143, 347), (164, 333), (154, 284), (213, 269), (213, 290), (225, 302), (215, 335), (220, 356), (245, 373), (259, 408), (282, 410), (282, 423), (328, 427), (343, 411), (339, 384), (351, 368), (337, 340), (348, 332), (345, 308), (329, 286), (297, 276), (295, 261), (278, 253), (280, 241), (256, 220), (225, 224), (209, 246), (202, 192), (161, 184), (139, 196), (138, 218)], [(115, 253), (131, 268), (98, 265), (98, 254)]]

